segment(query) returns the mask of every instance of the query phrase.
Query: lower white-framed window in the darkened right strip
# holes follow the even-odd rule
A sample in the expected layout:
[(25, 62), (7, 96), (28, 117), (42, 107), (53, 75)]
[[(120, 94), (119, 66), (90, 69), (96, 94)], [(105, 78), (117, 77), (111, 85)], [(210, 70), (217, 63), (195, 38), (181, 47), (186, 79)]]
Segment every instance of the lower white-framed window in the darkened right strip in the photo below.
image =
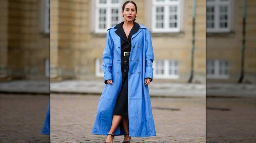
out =
[(228, 78), (227, 60), (207, 60), (206, 78)]

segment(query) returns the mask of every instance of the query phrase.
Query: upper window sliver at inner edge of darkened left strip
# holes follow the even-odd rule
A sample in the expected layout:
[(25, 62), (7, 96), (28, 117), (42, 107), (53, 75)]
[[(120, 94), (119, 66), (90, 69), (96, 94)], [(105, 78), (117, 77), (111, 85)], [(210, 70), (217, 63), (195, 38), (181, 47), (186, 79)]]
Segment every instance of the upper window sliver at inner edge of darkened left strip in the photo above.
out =
[(41, 32), (50, 34), (50, 0), (41, 0)]

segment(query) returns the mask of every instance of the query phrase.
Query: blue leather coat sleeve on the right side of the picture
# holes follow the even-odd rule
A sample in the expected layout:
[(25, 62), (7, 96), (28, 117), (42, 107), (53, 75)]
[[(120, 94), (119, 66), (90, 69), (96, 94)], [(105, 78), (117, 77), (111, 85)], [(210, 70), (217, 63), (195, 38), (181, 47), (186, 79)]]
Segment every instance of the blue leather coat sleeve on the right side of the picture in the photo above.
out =
[(152, 46), (152, 40), (150, 32), (147, 29), (145, 38), (145, 78), (151, 78), (153, 80), (153, 68), (152, 63), (154, 61), (154, 52)]

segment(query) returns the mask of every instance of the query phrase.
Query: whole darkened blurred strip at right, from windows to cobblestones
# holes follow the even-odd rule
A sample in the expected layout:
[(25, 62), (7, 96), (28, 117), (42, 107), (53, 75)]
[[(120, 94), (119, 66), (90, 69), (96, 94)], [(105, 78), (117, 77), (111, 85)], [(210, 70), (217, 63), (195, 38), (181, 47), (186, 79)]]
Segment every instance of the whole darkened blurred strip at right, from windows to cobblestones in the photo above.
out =
[(256, 142), (255, 9), (206, 0), (206, 142)]

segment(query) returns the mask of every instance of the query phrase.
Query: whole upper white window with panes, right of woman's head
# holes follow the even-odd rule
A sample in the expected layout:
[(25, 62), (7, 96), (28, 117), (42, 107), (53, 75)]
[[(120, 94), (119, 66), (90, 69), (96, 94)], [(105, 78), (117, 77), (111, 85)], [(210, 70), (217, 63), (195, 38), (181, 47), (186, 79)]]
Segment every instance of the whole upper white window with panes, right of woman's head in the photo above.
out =
[(152, 32), (180, 32), (181, 0), (153, 0)]

